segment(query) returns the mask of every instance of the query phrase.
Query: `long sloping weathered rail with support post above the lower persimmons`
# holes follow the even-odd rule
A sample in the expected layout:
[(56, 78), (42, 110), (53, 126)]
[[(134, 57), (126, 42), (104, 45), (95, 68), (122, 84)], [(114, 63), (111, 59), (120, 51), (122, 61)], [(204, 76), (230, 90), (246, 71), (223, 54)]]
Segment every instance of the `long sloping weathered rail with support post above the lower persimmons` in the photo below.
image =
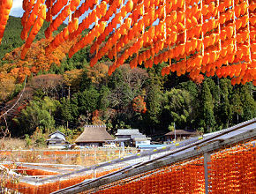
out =
[[(131, 165), (129, 168), (123, 168), (109, 175), (87, 181), (85, 183), (79, 183), (63, 190), (57, 190), (53, 193), (78, 193), (84, 190), (91, 190), (99, 188), (102, 185), (117, 182), (133, 175), (139, 175), (156, 168), (162, 168), (167, 165), (171, 165), (183, 160), (189, 160), (196, 156), (205, 155), (207, 158), (208, 153), (217, 152), (225, 146), (237, 144), (238, 142), (253, 139), (256, 137), (256, 119), (237, 124), (226, 130), (220, 131), (213, 135), (209, 135), (206, 138), (200, 139), (187, 146), (182, 146), (176, 150), (169, 150), (169, 153), (163, 154), (153, 160), (142, 161), (137, 164)], [(169, 146), (165, 149), (170, 149)], [(153, 151), (155, 152), (155, 151)], [(157, 150), (160, 152), (160, 150)], [(146, 153), (140, 153), (137, 157), (145, 156)], [(147, 152), (147, 155), (152, 154)], [(135, 156), (132, 156), (135, 157)], [(207, 164), (207, 160), (205, 162)], [(207, 174), (207, 173), (206, 173)], [(206, 190), (207, 190), (207, 178)]]

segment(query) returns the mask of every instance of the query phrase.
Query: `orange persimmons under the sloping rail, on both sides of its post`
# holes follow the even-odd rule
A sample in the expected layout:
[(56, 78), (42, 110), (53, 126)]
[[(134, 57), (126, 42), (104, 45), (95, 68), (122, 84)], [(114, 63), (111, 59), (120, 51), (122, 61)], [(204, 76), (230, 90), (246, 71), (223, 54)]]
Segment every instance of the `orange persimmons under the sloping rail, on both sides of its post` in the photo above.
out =
[[(255, 153), (251, 142), (213, 153), (208, 162), (209, 193), (253, 193)], [(204, 174), (200, 157), (109, 183), (96, 193), (205, 193)]]

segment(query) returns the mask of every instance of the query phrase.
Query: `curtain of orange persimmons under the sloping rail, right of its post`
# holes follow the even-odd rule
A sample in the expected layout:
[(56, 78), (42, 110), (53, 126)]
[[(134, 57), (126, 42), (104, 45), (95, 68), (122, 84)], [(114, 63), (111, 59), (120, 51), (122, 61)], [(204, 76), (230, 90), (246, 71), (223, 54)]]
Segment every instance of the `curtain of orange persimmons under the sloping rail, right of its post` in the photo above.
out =
[(215, 153), (210, 162), (211, 193), (223, 190), (228, 193), (255, 192), (255, 154), (253, 143)]

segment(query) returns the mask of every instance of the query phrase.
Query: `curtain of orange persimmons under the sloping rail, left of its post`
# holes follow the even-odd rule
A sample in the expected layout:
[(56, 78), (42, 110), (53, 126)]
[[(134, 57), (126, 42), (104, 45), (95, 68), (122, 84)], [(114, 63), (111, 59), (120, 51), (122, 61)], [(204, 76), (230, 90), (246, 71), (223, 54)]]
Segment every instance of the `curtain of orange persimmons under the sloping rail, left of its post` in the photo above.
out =
[(198, 159), (110, 183), (96, 193), (204, 193), (204, 191), (203, 160)]

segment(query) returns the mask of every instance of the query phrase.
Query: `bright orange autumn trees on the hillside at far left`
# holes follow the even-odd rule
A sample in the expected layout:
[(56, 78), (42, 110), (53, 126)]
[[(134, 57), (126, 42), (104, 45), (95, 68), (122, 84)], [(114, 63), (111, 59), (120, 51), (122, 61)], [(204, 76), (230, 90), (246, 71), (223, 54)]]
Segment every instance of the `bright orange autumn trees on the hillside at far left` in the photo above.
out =
[[(75, 40), (74, 40), (75, 41)], [(26, 76), (36, 75), (40, 71), (49, 71), (51, 65), (60, 65), (66, 56), (73, 41), (66, 41), (60, 47), (56, 48), (49, 56), (45, 55), (45, 48), (49, 45), (50, 40), (41, 39), (32, 43), (31, 48), (26, 53), (25, 60), (20, 59), (20, 53), (23, 48), (15, 48), (4, 56), (4, 65), (0, 71), (15, 78), (17, 82), (23, 82)]]

